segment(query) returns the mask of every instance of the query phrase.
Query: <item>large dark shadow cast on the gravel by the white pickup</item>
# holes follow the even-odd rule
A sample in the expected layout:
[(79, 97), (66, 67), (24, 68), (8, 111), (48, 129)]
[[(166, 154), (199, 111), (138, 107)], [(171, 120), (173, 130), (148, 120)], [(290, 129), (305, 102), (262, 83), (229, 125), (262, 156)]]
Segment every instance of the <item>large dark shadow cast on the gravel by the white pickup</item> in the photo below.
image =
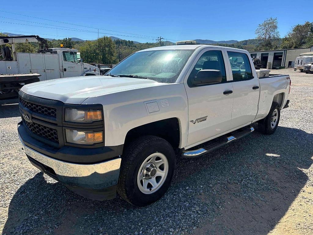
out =
[(312, 141), (312, 134), (279, 127), (273, 135), (253, 133), (202, 158), (178, 158), (169, 191), (143, 208), (120, 198), (88, 200), (38, 173), (13, 196), (3, 235), (169, 234), (176, 229), (267, 234), (308, 179), (301, 169), (312, 164)]

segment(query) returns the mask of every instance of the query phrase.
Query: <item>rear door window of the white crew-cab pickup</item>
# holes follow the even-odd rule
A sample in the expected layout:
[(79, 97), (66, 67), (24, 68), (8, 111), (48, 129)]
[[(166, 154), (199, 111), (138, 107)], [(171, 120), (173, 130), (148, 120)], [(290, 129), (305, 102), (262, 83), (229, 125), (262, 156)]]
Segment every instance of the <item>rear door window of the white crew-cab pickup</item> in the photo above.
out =
[(228, 51), (227, 54), (233, 73), (233, 81), (243, 81), (253, 78), (250, 61), (245, 53)]

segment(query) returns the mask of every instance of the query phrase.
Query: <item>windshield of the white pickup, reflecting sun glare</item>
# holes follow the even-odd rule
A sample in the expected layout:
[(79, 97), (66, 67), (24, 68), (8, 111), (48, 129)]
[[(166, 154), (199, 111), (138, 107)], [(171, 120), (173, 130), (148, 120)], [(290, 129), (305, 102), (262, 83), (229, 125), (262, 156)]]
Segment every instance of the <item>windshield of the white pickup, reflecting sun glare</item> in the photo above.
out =
[(173, 83), (194, 50), (150, 50), (134, 53), (106, 75), (135, 75)]

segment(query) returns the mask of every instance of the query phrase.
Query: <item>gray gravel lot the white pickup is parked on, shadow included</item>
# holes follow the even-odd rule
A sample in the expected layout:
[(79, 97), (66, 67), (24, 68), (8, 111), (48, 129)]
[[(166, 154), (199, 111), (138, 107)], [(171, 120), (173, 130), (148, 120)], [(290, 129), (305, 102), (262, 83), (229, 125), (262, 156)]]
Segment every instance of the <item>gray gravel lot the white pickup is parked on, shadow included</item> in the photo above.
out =
[(92, 201), (43, 175), (19, 145), (17, 99), (0, 101), (3, 234), (313, 234), (313, 74), (293, 69), (290, 107), (270, 136), (254, 132), (198, 159), (177, 159), (153, 205)]

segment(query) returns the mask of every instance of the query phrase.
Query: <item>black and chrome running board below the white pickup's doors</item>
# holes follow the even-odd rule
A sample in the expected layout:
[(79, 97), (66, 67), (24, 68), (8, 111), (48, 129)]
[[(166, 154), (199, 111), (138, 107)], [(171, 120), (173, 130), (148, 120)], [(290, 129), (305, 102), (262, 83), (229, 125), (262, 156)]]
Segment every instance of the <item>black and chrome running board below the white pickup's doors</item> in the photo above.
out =
[[(214, 140), (210, 140), (206, 143), (200, 144), (199, 146), (201, 146), (199, 149), (195, 149), (195, 150), (184, 150), (182, 152), (182, 157), (183, 158), (196, 158), (199, 157), (203, 154), (207, 154), (208, 152), (213, 151), (214, 149), (218, 149), (219, 147), (222, 147), (234, 140), (240, 139), (246, 135), (249, 135), (251, 132), (254, 131), (253, 127), (249, 127), (249, 128), (243, 128), (243, 130), (241, 131), (236, 131), (236, 133), (228, 136), (228, 137), (219, 137), (217, 138), (218, 141)], [(213, 141), (213, 142), (212, 142)]]

